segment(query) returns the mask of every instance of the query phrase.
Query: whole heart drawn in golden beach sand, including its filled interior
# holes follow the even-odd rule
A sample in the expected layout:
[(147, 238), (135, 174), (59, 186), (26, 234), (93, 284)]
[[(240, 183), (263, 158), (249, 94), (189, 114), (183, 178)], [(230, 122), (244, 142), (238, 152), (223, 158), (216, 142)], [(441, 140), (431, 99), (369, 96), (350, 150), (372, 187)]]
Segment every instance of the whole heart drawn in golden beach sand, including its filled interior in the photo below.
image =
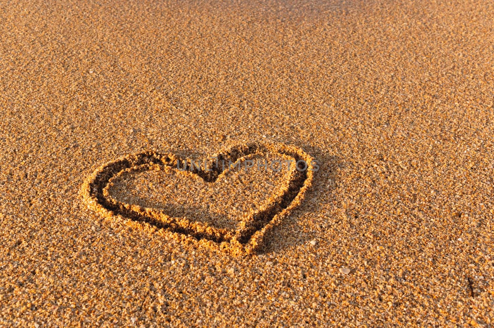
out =
[(108, 219), (252, 253), (300, 205), (314, 170), (311, 156), (284, 144), (238, 143), (204, 161), (143, 152), (97, 168), (82, 197)]

